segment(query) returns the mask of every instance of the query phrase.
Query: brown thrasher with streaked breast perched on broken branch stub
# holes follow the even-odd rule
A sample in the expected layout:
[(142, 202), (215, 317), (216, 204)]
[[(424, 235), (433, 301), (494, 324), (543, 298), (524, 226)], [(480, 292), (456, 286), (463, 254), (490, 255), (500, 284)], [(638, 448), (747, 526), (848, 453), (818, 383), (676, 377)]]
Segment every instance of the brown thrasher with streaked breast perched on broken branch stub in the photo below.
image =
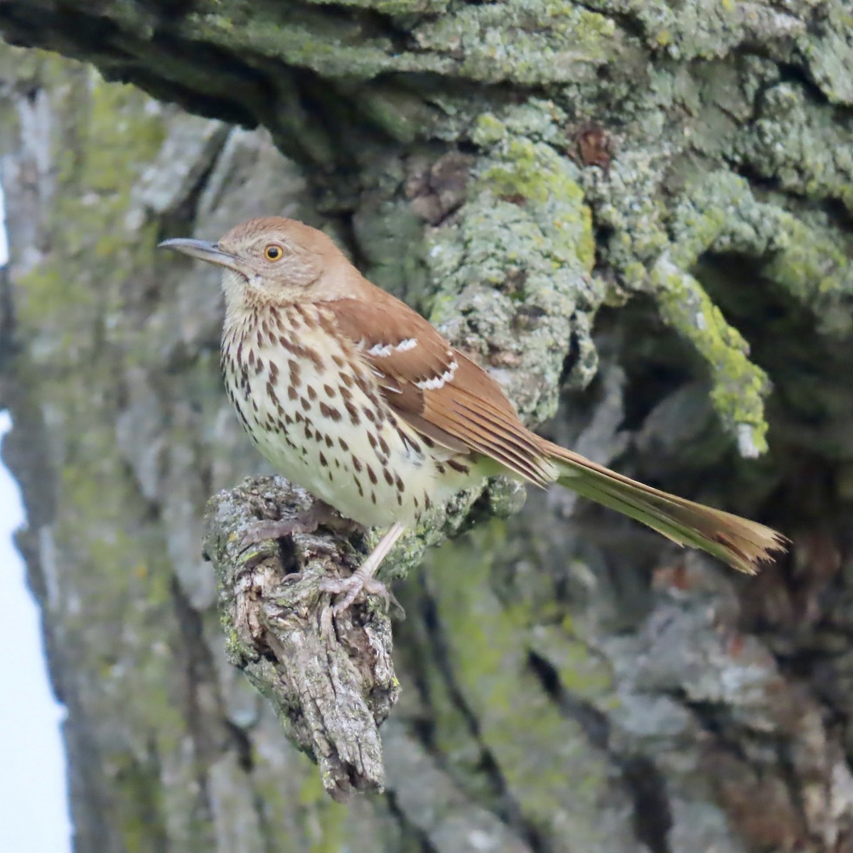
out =
[(539, 438), (485, 370), (322, 231), (259, 218), (218, 243), (160, 246), (223, 268), (225, 384), (258, 450), (347, 518), (390, 525), (363, 566), (327, 586), (345, 594), (335, 612), (363, 589), (383, 591), (374, 572), (421, 513), (493, 474), (566, 485), (740, 572), (785, 548), (769, 527)]

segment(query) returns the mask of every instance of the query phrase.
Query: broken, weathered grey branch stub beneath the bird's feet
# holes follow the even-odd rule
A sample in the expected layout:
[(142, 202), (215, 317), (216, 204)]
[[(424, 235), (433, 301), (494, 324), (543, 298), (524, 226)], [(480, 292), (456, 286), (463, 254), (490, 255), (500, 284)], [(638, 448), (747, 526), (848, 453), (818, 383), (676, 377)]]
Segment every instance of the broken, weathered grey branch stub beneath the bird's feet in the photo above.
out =
[(212, 498), (204, 547), (217, 573), (229, 663), (270, 700), (287, 736), (316, 760), (323, 787), (343, 802), (383, 788), (378, 727), (400, 689), (390, 621), (373, 601), (333, 625), (321, 583), (357, 567), (345, 539), (300, 534), (289, 560), (276, 540), (244, 544), (258, 519), (296, 518), (311, 502), (281, 479), (247, 480)]

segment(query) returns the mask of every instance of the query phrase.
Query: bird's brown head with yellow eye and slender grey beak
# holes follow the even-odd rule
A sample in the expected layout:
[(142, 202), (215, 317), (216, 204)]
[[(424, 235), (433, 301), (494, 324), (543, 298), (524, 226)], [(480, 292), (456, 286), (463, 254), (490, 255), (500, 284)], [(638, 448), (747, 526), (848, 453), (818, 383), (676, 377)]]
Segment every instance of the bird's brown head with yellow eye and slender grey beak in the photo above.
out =
[(250, 219), (215, 243), (177, 238), (160, 248), (222, 267), (233, 307), (337, 299), (347, 295), (346, 271), (353, 270), (322, 231), (283, 217)]

